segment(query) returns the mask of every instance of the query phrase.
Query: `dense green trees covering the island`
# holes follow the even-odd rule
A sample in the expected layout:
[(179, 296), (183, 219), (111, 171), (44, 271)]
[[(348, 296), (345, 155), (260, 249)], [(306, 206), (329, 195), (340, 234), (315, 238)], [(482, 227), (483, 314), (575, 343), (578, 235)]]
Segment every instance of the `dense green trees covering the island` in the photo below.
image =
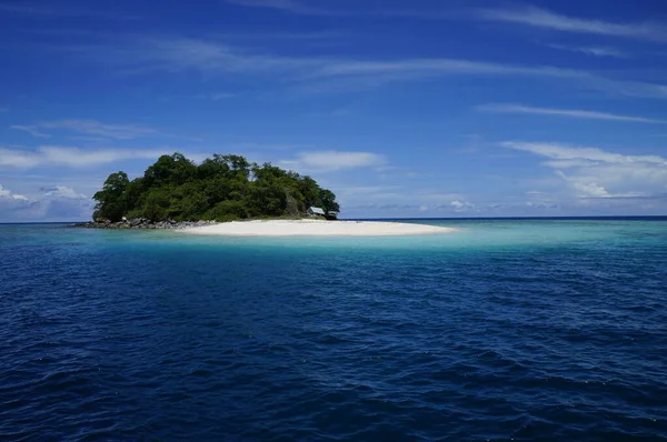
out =
[(125, 172), (110, 174), (93, 199), (93, 219), (115, 222), (122, 217), (151, 221), (298, 217), (311, 205), (339, 210), (336, 195), (310, 177), (219, 154), (199, 165), (180, 153), (162, 155), (132, 181)]

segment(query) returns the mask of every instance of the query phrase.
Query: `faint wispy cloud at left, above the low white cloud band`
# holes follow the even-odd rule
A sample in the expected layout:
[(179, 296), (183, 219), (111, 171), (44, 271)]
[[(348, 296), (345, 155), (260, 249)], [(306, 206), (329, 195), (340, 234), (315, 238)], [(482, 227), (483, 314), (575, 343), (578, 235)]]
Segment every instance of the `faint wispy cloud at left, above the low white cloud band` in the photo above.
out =
[(12, 125), (11, 129), (22, 130), (33, 137), (49, 138), (40, 129), (62, 130), (89, 137), (102, 137), (115, 140), (133, 140), (141, 137), (159, 135), (160, 131), (138, 124), (107, 124), (94, 120), (60, 120), (42, 121), (31, 125)]

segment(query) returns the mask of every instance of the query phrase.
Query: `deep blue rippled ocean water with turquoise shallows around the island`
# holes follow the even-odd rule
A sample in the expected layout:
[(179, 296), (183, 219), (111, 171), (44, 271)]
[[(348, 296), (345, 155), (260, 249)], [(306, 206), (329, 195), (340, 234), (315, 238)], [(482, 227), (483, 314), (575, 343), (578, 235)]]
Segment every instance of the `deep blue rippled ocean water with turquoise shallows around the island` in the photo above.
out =
[(0, 225), (0, 440), (667, 440), (667, 221)]

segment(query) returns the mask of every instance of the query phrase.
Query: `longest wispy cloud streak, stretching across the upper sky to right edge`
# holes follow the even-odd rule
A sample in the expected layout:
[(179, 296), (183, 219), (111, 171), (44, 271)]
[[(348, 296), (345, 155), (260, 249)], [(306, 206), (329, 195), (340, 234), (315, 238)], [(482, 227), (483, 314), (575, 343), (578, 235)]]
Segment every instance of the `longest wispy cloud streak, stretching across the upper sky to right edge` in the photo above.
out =
[(73, 53), (125, 73), (198, 71), (207, 77), (258, 76), (313, 91), (372, 88), (445, 76), (512, 76), (578, 81), (616, 94), (667, 99), (663, 84), (616, 81), (587, 71), (548, 66), (504, 64), (461, 59), (355, 60), (283, 57), (233, 48), (217, 40), (153, 38), (112, 46), (77, 47)]

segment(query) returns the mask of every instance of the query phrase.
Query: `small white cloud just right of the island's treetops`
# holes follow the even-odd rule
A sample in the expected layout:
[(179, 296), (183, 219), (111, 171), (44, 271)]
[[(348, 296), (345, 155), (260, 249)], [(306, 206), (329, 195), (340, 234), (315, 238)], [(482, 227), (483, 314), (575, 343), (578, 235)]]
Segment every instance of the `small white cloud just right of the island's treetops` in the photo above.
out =
[(312, 151), (301, 152), (295, 160), (285, 160), (281, 165), (306, 171), (335, 171), (358, 168), (379, 168), (386, 164), (385, 157), (371, 152)]

